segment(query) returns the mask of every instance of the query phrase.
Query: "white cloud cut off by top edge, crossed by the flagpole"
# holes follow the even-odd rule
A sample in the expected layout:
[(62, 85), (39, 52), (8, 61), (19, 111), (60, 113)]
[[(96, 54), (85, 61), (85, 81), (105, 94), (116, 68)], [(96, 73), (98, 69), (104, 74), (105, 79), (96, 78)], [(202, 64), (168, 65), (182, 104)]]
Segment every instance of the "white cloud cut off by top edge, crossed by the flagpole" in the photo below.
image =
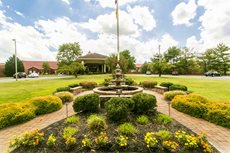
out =
[[(115, 8), (115, 0), (96, 0), (96, 1), (99, 2), (101, 7), (103, 7), (103, 8), (106, 8), (106, 7)], [(134, 3), (136, 1), (137, 0), (118, 0), (118, 4), (119, 4), (119, 6), (122, 6), (122, 5), (126, 5), (128, 3)]]

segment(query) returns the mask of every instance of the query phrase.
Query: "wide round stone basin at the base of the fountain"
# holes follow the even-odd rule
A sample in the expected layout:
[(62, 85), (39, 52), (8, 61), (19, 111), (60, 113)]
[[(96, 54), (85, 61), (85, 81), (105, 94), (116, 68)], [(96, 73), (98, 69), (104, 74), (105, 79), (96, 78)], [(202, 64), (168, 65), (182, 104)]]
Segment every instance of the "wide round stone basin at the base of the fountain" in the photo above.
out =
[(121, 90), (120, 95), (134, 95), (136, 93), (143, 92), (143, 88), (138, 86), (109, 86), (109, 87), (97, 87), (93, 89), (94, 93), (99, 95), (118, 95), (117, 90)]

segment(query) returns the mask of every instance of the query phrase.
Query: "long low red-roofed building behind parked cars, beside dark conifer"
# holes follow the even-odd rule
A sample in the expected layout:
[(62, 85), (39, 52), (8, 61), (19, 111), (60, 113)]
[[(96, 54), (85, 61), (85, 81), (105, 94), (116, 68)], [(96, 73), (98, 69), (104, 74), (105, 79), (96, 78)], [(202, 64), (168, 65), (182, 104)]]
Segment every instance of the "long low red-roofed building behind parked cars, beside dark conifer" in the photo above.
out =
[(43, 74), (43, 63), (48, 62), (50, 69), (48, 71), (48, 74), (55, 74), (57, 70), (57, 62), (56, 61), (22, 61), (24, 65), (25, 72), (27, 74), (36, 72), (39, 74)]

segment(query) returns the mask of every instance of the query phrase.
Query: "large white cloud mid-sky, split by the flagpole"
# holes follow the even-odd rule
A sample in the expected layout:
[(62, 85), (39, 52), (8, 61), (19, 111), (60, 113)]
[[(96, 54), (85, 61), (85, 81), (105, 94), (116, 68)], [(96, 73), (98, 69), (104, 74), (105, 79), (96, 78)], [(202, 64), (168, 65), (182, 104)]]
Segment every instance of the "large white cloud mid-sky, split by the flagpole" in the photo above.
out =
[[(119, 24), (121, 35), (138, 36), (138, 26), (133, 22), (132, 17), (125, 11), (119, 10)], [(116, 15), (115, 12), (110, 14), (99, 15), (96, 19), (89, 19), (80, 26), (96, 33), (116, 34)]]

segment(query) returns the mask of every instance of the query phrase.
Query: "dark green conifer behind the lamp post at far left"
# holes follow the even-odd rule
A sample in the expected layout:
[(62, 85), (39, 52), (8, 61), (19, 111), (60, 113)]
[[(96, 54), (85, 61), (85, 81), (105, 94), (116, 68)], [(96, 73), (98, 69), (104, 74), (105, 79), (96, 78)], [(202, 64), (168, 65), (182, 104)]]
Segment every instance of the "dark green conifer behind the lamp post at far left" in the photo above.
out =
[[(18, 72), (24, 72), (24, 65), (19, 58), (17, 58), (17, 70), (18, 70)], [(16, 71), (15, 71), (15, 55), (13, 55), (5, 63), (4, 74), (6, 76), (11, 77), (15, 73), (16, 73)]]

